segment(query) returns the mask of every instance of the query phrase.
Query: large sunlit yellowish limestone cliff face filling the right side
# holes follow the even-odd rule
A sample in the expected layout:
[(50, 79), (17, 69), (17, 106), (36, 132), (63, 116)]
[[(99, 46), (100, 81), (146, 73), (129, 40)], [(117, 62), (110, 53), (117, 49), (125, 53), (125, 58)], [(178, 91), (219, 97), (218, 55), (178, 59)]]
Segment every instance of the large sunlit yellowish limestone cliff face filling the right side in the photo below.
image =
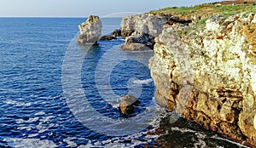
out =
[(256, 145), (256, 14), (166, 26), (151, 76), (160, 105), (231, 139)]

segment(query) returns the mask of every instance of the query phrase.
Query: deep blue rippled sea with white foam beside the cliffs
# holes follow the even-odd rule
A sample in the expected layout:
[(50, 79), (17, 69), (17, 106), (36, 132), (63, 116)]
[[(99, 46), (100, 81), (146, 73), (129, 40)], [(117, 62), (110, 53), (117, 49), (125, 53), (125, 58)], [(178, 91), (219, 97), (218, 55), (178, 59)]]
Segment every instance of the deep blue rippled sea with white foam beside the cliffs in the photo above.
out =
[[(153, 51), (76, 43), (86, 18), (0, 18), (0, 147), (247, 147), (154, 98)], [(121, 18), (102, 18), (102, 35)], [(125, 94), (139, 104), (119, 111)]]

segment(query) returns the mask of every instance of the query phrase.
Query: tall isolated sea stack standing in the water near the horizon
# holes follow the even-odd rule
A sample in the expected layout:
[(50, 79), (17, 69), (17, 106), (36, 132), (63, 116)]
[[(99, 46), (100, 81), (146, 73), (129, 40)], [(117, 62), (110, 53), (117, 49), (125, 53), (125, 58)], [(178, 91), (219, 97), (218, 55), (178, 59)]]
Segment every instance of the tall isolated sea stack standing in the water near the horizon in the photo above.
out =
[(102, 21), (98, 16), (90, 15), (90, 17), (81, 25), (79, 25), (78, 43), (95, 44), (102, 35)]

